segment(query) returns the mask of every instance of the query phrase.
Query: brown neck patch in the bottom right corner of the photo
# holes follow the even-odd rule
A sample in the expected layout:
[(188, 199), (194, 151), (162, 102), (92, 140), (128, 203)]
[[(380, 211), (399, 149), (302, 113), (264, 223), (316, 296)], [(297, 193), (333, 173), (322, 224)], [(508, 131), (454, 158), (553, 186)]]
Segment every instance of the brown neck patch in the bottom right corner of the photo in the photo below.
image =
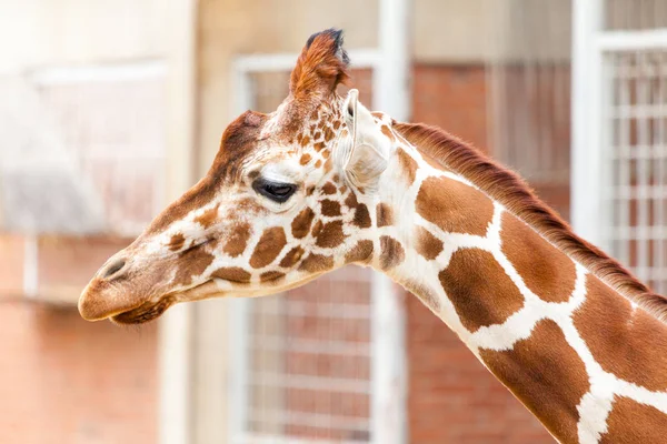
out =
[(600, 444), (661, 443), (667, 436), (667, 415), (629, 397), (615, 396)]

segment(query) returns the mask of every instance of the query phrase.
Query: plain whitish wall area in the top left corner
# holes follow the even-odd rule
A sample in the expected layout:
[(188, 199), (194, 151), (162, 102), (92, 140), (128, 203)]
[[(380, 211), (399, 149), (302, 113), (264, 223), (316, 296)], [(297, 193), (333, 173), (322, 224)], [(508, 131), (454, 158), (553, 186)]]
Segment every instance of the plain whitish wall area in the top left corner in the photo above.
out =
[(0, 0), (0, 73), (167, 53), (159, 0)]

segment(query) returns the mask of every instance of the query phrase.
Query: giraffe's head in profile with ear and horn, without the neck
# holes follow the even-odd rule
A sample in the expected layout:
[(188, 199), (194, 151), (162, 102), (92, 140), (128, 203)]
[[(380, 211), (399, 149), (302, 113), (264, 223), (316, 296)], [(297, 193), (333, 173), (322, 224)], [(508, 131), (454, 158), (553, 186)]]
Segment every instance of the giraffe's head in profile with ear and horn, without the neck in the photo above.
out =
[(272, 294), (372, 258), (388, 139), (356, 90), (336, 92), (348, 80), (341, 44), (335, 30), (308, 40), (288, 98), (226, 129), (206, 176), (83, 290), (84, 319), (141, 323), (178, 302)]

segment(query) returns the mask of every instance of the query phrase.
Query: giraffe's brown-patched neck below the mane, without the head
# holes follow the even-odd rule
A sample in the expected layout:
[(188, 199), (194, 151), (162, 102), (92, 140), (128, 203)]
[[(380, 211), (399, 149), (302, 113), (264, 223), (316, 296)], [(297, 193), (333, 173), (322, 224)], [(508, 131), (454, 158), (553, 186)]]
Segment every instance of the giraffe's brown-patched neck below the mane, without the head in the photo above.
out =
[[(374, 266), (448, 324), (560, 442), (663, 440), (667, 326), (394, 137)], [(400, 215), (394, 226), (380, 223), (381, 205)]]

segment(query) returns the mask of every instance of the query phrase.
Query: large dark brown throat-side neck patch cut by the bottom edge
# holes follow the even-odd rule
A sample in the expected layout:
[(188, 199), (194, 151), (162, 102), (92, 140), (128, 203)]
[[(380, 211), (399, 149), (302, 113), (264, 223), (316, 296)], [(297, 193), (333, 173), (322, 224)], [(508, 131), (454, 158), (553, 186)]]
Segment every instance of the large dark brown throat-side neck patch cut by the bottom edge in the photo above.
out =
[(551, 320), (512, 350), (480, 350), (487, 367), (563, 443), (577, 443), (577, 405), (590, 384), (584, 362)]

